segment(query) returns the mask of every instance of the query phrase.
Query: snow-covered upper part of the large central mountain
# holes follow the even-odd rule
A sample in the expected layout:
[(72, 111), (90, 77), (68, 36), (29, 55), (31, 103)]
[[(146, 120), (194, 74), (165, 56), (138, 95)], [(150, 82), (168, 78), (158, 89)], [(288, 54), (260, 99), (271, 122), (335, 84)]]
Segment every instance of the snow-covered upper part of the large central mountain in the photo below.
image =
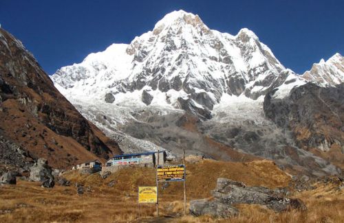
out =
[(224, 94), (265, 95), (286, 79), (284, 69), (252, 31), (210, 30), (199, 16), (180, 10), (129, 45), (111, 45), (59, 69), (52, 80), (69, 97), (110, 103), (134, 97), (147, 105), (183, 108), (186, 102), (212, 110)]

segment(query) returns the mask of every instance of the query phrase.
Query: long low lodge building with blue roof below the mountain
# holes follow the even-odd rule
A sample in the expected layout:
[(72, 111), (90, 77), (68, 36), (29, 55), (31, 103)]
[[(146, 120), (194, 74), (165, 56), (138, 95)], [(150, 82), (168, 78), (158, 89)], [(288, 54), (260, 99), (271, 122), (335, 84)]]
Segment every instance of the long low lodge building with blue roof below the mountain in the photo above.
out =
[[(166, 152), (159, 152), (159, 165), (163, 165), (166, 162)], [(158, 164), (158, 152), (140, 152), (132, 154), (116, 155), (109, 159), (105, 163), (106, 167), (118, 166), (118, 165), (142, 165), (152, 166)]]

